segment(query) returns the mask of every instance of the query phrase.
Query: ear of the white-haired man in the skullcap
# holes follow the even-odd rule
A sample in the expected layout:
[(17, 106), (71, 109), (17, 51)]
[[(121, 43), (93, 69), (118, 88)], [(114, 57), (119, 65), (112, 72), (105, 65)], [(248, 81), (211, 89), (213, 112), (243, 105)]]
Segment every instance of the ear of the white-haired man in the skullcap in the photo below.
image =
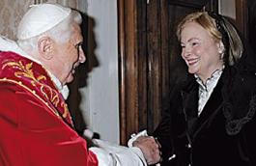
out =
[(53, 57), (52, 46), (52, 40), (49, 37), (43, 37), (38, 41), (39, 52), (44, 59), (50, 60)]

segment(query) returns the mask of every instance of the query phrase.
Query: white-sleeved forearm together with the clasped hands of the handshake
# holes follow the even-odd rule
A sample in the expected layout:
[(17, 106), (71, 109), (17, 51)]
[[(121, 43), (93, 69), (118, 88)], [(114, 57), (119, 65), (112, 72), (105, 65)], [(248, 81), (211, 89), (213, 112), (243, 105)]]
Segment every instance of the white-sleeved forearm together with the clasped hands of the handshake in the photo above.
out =
[(90, 142), (89, 150), (97, 155), (99, 166), (147, 166), (161, 161), (160, 145), (146, 130), (132, 134), (128, 147), (94, 139), (93, 132), (88, 129), (83, 137)]

